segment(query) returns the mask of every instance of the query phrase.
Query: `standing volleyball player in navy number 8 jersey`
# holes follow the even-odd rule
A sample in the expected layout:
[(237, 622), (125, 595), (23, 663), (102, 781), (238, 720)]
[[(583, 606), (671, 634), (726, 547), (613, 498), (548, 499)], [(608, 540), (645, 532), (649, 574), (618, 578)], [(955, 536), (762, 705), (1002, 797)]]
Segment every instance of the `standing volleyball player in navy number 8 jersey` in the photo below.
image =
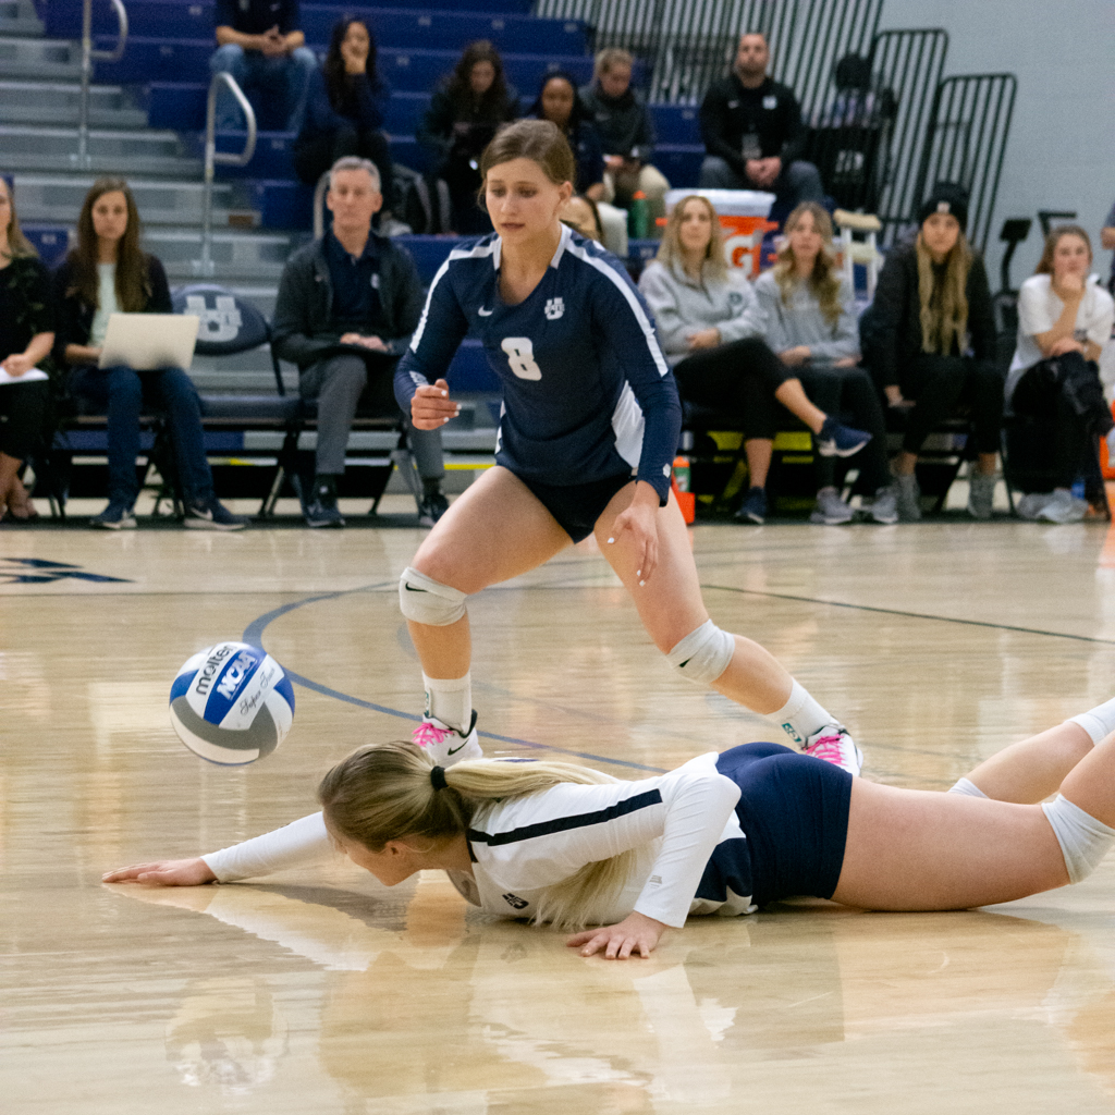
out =
[(400, 579), (426, 685), (415, 741), (437, 763), (481, 754), (467, 597), (594, 533), (682, 677), (857, 774), (843, 726), (768, 651), (708, 617), (670, 495), (677, 387), (622, 264), (559, 220), (574, 176), (564, 136), (520, 120), (488, 145), (481, 173), (495, 233), (449, 253), (395, 376), (415, 426), (437, 429), (458, 411), (443, 377), (472, 329), (504, 392), (496, 467), (450, 506)]

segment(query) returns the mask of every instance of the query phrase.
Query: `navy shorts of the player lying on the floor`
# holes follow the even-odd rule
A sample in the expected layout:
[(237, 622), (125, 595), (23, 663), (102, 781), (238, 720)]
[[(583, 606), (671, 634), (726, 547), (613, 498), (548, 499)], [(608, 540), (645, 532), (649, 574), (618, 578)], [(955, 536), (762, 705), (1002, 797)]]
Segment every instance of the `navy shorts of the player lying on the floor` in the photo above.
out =
[[(752, 901), (764, 906), (803, 894), (832, 898), (844, 863), (852, 775), (782, 744), (733, 747), (716, 766), (739, 786), (736, 815), (747, 840), (720, 847), (748, 857)], [(741, 845), (738, 852), (734, 845)], [(709, 863), (737, 878), (744, 866)]]

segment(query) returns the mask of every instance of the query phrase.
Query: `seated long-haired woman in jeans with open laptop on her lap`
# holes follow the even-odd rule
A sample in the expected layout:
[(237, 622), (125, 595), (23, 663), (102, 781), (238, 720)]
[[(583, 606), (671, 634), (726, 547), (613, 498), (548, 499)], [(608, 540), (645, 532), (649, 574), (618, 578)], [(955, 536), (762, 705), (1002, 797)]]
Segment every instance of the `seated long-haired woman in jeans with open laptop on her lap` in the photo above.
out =
[(108, 414), (108, 506), (90, 525), (109, 531), (136, 525), (136, 457), (146, 397), (166, 411), (185, 501), (185, 525), (203, 531), (242, 530), (248, 521), (231, 514), (213, 493), (201, 400), (185, 371), (97, 367), (109, 314), (172, 312), (166, 272), (156, 256), (144, 254), (139, 236), (139, 213), (127, 183), (99, 178), (78, 214), (77, 248), (55, 273), (56, 359), (72, 369), (70, 392), (107, 407)]

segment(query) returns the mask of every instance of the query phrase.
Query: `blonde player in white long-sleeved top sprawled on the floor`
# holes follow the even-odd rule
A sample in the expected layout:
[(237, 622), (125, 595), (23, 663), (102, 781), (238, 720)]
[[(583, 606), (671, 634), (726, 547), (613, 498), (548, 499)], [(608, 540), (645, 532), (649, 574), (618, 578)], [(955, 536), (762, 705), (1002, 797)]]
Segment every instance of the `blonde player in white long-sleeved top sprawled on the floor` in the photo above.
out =
[(1115, 844), (1113, 733), (1109, 700), (992, 756), (949, 794), (865, 782), (778, 744), (637, 782), (515, 759), (446, 769), (413, 743), (372, 744), (322, 779), (322, 813), (104, 878), (231, 882), (332, 845), (388, 886), (442, 870), (488, 913), (581, 930), (568, 943), (582, 956), (646, 957), (690, 914), (792, 895), (958, 910), (1078, 882)]

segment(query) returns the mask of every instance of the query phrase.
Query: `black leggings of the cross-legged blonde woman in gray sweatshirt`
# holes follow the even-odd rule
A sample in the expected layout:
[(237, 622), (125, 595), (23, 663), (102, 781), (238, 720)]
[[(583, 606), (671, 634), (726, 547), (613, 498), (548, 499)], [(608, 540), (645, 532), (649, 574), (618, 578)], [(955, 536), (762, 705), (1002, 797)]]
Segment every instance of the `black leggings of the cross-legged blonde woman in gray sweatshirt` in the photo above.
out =
[(687, 356), (675, 369), (678, 391), (687, 403), (715, 407), (739, 423), (744, 440), (774, 440), (780, 404), (774, 392), (795, 372), (758, 337), (745, 337)]

